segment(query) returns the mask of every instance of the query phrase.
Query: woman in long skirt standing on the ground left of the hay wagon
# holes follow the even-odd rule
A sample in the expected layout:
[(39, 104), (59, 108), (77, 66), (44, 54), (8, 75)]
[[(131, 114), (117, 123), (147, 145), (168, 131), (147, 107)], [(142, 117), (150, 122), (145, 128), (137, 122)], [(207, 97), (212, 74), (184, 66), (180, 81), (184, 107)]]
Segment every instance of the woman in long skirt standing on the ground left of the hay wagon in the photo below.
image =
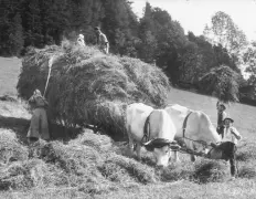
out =
[(32, 108), (32, 118), (26, 135), (29, 144), (35, 143), (40, 138), (44, 140), (49, 140), (50, 134), (49, 134), (49, 123), (46, 115), (46, 107), (47, 107), (46, 100), (42, 96), (39, 90), (35, 90), (33, 95), (29, 100), (29, 104)]

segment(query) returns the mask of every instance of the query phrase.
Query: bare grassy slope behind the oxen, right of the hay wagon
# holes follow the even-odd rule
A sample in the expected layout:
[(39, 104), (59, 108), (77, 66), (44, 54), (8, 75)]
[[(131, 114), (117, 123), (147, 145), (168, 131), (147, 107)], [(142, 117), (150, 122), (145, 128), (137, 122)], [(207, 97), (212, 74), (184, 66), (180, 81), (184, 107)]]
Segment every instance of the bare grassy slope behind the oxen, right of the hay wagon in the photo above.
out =
[[(201, 109), (205, 112), (210, 116), (213, 124), (216, 125), (216, 98), (186, 91), (172, 90), (169, 95), (169, 101), (170, 104), (177, 103), (192, 109)], [(256, 140), (256, 107), (235, 103), (226, 106), (226, 113), (234, 118), (234, 125), (245, 139)]]

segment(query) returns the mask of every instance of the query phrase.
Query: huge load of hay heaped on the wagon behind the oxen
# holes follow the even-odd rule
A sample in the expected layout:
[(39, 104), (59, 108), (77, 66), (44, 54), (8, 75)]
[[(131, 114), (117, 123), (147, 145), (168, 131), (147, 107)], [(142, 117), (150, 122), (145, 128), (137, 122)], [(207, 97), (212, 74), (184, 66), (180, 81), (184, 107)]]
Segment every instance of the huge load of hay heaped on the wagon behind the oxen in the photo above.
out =
[(44, 93), (50, 60), (45, 97), (51, 118), (64, 125), (93, 124), (120, 133), (127, 104), (143, 102), (159, 107), (167, 103), (169, 80), (157, 66), (67, 41), (62, 46), (32, 49), (24, 56), (17, 86), (22, 98), (28, 100), (35, 88)]

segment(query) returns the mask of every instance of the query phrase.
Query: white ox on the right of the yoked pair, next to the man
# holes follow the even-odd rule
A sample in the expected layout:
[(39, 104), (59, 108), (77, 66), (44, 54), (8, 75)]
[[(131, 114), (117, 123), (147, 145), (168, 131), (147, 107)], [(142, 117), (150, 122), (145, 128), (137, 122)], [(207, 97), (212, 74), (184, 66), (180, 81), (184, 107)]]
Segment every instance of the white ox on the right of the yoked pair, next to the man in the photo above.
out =
[[(230, 160), (232, 167), (234, 166), (233, 149), (228, 147), (228, 143), (221, 143), (221, 136), (206, 114), (178, 104), (169, 105), (164, 109), (177, 128), (174, 139), (182, 148), (191, 151), (192, 161), (195, 160), (194, 154), (199, 154), (211, 159)], [(234, 168), (231, 168), (231, 174), (235, 175)]]

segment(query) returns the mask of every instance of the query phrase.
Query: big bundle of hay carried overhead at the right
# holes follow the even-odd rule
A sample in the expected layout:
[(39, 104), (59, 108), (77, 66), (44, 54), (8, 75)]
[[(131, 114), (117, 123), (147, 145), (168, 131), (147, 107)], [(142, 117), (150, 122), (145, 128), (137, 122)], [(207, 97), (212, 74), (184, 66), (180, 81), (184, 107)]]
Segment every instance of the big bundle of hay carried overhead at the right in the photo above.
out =
[(238, 102), (238, 74), (226, 65), (212, 69), (200, 80), (202, 93), (213, 95), (224, 103)]

